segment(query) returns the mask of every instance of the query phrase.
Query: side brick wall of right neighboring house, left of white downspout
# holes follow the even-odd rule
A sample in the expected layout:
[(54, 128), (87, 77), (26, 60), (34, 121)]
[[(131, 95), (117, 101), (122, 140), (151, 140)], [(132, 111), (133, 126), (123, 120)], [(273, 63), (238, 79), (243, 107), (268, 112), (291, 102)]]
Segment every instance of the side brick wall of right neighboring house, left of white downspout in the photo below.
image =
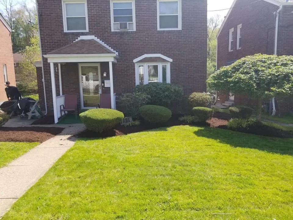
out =
[[(252, 3), (254, 2), (254, 3)], [(265, 1), (237, 1), (218, 37), (218, 69), (232, 60), (255, 53), (273, 54), (274, 27), (273, 12), (278, 6)], [(237, 25), (242, 24), (242, 46), (237, 50)], [(229, 49), (229, 30), (234, 28), (234, 47)]]

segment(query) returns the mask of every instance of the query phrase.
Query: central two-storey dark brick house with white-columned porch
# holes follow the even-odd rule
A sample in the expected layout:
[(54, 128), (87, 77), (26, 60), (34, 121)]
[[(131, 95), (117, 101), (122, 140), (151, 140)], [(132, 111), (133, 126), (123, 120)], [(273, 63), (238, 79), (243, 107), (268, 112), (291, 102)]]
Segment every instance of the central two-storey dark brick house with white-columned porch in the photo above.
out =
[(116, 94), (138, 84), (206, 90), (207, 0), (37, 0), (37, 7), (39, 97), (55, 122), (63, 94), (78, 94), (80, 108), (95, 108), (99, 96), (116, 108)]

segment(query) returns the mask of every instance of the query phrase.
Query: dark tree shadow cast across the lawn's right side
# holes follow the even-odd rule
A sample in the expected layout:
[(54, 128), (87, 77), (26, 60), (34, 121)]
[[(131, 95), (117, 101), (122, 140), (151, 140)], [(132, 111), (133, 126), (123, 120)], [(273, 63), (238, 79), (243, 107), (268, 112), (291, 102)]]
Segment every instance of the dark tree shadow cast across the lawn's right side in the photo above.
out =
[(229, 144), (235, 148), (251, 148), (293, 156), (293, 139), (270, 138), (209, 127), (203, 127), (194, 131), (194, 134), (200, 137), (219, 140), (221, 143)]

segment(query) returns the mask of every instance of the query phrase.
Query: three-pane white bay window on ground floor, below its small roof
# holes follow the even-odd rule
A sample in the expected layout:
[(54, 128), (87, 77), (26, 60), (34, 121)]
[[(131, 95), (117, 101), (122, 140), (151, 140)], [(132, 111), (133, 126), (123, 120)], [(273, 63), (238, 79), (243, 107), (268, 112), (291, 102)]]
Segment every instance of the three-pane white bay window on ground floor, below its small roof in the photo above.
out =
[(136, 85), (149, 82), (170, 83), (170, 63), (136, 64)]

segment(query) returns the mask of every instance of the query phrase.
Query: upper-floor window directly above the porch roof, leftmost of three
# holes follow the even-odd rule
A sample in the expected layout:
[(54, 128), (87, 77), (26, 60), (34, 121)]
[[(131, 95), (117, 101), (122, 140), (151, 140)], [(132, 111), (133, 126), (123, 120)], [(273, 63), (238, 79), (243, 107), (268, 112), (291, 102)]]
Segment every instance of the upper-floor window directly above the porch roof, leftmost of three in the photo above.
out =
[(63, 0), (64, 32), (85, 32), (88, 28), (88, 10), (85, 0)]

